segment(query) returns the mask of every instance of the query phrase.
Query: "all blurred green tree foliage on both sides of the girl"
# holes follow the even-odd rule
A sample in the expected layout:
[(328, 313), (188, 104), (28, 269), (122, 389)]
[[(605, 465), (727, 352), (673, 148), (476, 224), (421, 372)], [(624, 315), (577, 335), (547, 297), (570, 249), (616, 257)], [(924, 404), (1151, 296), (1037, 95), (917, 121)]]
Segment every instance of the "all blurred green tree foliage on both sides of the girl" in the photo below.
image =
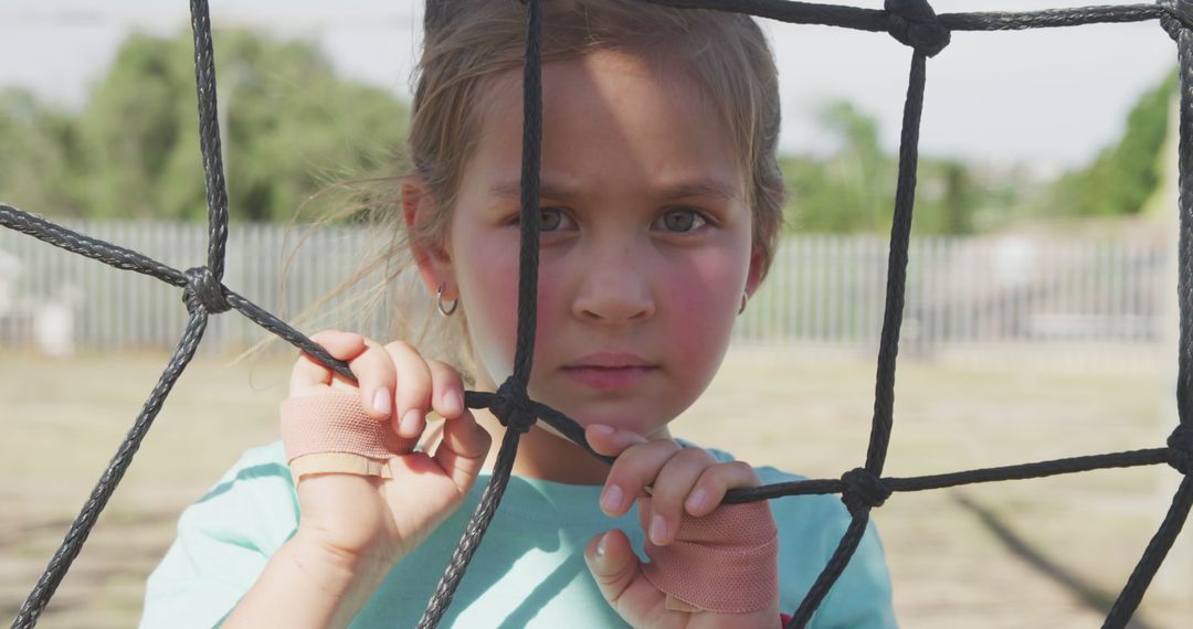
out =
[[(206, 212), (188, 32), (137, 35), (67, 112), (0, 91), (0, 199), (50, 216), (202, 219)], [(220, 118), (230, 208), (285, 220), (334, 182), (400, 173), (408, 112), (388, 93), (339, 77), (317, 49), (245, 31), (217, 33)], [(1133, 214), (1156, 189), (1175, 74), (1131, 110), (1123, 137), (1046, 194), (1024, 172), (921, 156), (916, 233), (964, 235), (1037, 216)], [(828, 156), (780, 161), (798, 231), (884, 233), (897, 161), (873, 117), (829, 102)], [(316, 210), (319, 211), (319, 210)]]

